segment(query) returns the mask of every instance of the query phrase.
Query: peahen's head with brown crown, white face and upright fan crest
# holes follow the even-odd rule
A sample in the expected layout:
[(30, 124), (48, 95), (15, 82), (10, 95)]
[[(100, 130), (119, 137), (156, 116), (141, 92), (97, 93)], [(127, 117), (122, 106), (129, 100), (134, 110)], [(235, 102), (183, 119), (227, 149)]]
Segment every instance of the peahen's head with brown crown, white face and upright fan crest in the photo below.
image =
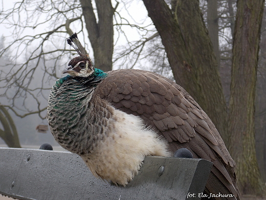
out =
[(78, 57), (74, 57), (70, 62), (68, 67), (66, 67), (62, 73), (69, 73), (71, 76), (80, 76), (80, 77), (88, 77), (94, 73), (95, 68), (93, 63), (88, 57), (86, 50), (82, 47), (79, 42), (77, 33), (71, 35), (66, 42), (77, 51), (79, 54)]

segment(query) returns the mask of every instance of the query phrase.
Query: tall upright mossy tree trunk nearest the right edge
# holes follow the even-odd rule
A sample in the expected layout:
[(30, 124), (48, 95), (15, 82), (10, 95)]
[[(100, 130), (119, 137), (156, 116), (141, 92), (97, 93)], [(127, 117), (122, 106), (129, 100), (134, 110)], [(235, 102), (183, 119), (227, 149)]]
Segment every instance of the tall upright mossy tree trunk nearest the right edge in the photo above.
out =
[(238, 0), (230, 98), (230, 152), (242, 194), (262, 195), (254, 136), (255, 88), (264, 0)]

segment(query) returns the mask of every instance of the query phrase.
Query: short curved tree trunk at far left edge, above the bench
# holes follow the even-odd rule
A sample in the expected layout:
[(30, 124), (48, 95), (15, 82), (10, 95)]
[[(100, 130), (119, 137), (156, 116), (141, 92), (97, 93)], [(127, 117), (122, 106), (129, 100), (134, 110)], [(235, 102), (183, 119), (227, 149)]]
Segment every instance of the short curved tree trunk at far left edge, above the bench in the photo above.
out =
[(3, 130), (0, 129), (0, 137), (5, 141), (8, 147), (21, 148), (19, 144), (16, 126), (8, 111), (0, 106), (0, 122), (3, 125)]

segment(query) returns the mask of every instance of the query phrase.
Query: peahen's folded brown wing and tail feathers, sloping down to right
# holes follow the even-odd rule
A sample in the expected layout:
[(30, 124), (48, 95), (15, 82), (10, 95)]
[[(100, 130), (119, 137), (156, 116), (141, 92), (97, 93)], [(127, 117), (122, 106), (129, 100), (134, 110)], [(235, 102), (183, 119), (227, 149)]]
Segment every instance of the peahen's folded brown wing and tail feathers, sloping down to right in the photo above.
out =
[[(194, 157), (213, 162), (206, 185), (211, 193), (223, 190), (237, 195), (237, 189), (232, 185), (233, 159), (207, 114), (182, 87), (163, 76), (142, 70), (107, 73), (96, 94), (116, 108), (142, 117), (148, 126), (166, 137), (171, 151), (187, 148)], [(215, 184), (220, 188), (215, 189)]]

